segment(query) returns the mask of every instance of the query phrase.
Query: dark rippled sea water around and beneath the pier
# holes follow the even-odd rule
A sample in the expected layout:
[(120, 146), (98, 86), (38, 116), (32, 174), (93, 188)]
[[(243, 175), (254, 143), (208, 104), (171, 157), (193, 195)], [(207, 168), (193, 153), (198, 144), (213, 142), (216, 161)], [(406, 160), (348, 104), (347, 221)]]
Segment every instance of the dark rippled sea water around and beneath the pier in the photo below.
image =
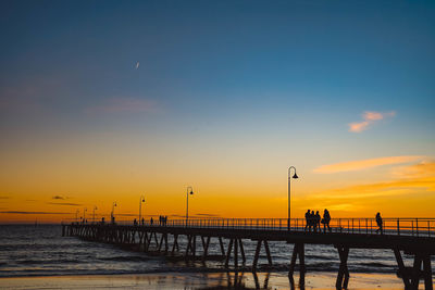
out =
[[(166, 272), (221, 272), (223, 261), (174, 262), (164, 256), (117, 248), (113, 244), (83, 241), (73, 237), (61, 237), (59, 225), (2, 225), (0, 226), (0, 277), (18, 276), (64, 276), (64, 275), (113, 275), (148, 274)], [(181, 250), (186, 241), (179, 240)], [(170, 239), (170, 245), (172, 240)], [(227, 243), (227, 241), (225, 241)], [(226, 244), (225, 244), (226, 245)], [(256, 243), (244, 240), (247, 255), (246, 269), (252, 265)], [(198, 253), (202, 245), (197, 240)], [(270, 242), (274, 272), (287, 272), (293, 244)], [(210, 254), (219, 254), (217, 239), (210, 243)], [(412, 265), (411, 256), (403, 256), (405, 263)], [(239, 262), (240, 263), (240, 262)], [(325, 245), (306, 245), (308, 272), (338, 270), (339, 260), (336, 249)], [(397, 270), (390, 250), (358, 250), (349, 253), (350, 273), (388, 273)], [(433, 262), (432, 265), (435, 263)], [(260, 255), (259, 269), (266, 268), (264, 251)]]

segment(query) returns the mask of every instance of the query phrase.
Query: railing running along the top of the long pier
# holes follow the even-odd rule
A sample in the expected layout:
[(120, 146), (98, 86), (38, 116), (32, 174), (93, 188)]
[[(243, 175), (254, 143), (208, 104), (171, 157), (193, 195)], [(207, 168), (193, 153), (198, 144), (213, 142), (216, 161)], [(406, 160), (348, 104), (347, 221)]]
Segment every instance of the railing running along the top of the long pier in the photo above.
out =
[(435, 218), (383, 218), (382, 230), (375, 218), (332, 218), (331, 231), (327, 226), (320, 224), (314, 229), (307, 226), (304, 218), (190, 218), (167, 219), (165, 223), (158, 218), (147, 220), (120, 220), (116, 225), (136, 226), (169, 226), (185, 228), (223, 228), (250, 230), (291, 230), (306, 232), (341, 232), (365, 235), (395, 235), (435, 238)]

